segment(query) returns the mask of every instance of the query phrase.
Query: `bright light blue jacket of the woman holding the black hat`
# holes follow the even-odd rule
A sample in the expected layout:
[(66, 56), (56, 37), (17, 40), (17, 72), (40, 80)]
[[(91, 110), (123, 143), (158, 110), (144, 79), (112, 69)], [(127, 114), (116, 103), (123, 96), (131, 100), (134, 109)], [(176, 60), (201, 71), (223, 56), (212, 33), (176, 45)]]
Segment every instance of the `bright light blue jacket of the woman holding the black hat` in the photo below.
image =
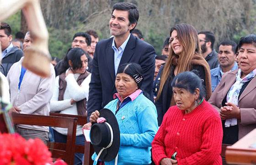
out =
[[(109, 102), (105, 108), (115, 114), (117, 101), (118, 99)], [(151, 142), (158, 130), (157, 112), (153, 102), (140, 94), (135, 100), (120, 108), (116, 117), (120, 129), (117, 165), (149, 165)], [(95, 158), (96, 154), (93, 154), (92, 159)], [(112, 160), (105, 162), (105, 165), (114, 163), (115, 160)]]

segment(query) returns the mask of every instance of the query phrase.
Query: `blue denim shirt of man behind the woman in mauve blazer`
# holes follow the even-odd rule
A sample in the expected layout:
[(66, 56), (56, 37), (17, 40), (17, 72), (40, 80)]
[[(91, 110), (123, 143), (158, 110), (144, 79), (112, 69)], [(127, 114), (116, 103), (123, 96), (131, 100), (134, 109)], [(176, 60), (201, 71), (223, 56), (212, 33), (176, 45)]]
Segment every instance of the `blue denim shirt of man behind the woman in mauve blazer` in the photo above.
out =
[[(230, 71), (235, 70), (237, 68), (238, 68), (238, 65), (235, 62), (233, 68)], [(219, 65), (217, 68), (211, 69), (212, 91), (214, 91), (217, 85), (219, 84), (222, 75), (224, 75), (224, 73)]]

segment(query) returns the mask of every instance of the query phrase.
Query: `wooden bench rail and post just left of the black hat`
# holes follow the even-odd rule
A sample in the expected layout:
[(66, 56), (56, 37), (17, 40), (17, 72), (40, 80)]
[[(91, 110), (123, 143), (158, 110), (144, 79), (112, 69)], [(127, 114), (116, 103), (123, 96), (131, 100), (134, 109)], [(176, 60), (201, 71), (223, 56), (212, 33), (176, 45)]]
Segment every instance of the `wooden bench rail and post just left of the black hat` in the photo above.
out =
[[(61, 113), (53, 113), (53, 112), (50, 112), (50, 116), (75, 117), (77, 118), (77, 125), (81, 125), (81, 126), (87, 123), (87, 116), (69, 115), (69, 114), (61, 114)], [(75, 144), (75, 153), (84, 154), (84, 165), (93, 165), (93, 160), (91, 160), (91, 156), (94, 153), (94, 149), (90, 142), (85, 141), (84, 146)]]

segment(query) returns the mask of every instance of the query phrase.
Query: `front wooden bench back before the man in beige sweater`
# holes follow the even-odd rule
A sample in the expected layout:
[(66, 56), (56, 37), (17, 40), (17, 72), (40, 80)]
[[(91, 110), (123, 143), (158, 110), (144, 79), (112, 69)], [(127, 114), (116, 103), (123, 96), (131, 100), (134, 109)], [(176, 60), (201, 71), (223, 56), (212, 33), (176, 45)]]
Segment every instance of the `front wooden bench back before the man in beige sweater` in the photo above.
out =
[(14, 124), (68, 128), (66, 144), (48, 142), (47, 145), (53, 158), (61, 158), (65, 160), (68, 165), (73, 165), (77, 118), (29, 115), (20, 113), (12, 113), (11, 116)]

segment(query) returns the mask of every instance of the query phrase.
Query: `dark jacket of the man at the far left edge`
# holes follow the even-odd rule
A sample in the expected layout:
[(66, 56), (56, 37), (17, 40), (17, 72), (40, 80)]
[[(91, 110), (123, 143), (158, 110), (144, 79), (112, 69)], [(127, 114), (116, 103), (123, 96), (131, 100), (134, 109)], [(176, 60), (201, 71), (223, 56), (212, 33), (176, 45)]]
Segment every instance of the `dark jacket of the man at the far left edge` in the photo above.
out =
[(0, 72), (7, 76), (12, 64), (18, 62), (23, 56), (23, 51), (17, 47), (12, 47), (10, 52), (2, 59), (2, 64), (0, 67)]

